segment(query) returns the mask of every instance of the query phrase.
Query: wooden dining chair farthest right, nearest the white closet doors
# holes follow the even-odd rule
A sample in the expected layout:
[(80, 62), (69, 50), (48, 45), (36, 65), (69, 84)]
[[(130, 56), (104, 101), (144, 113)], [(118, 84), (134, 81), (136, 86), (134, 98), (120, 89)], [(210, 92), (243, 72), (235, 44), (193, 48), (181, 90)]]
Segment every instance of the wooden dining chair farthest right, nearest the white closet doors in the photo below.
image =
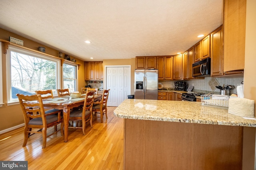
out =
[(92, 112), (97, 116), (97, 113), (100, 113), (100, 121), (103, 123), (103, 114), (105, 113), (106, 119), (108, 119), (108, 109), (107, 109), (107, 102), (108, 102), (108, 94), (110, 89), (104, 90), (102, 94), (102, 98), (100, 101), (94, 102), (92, 106)]

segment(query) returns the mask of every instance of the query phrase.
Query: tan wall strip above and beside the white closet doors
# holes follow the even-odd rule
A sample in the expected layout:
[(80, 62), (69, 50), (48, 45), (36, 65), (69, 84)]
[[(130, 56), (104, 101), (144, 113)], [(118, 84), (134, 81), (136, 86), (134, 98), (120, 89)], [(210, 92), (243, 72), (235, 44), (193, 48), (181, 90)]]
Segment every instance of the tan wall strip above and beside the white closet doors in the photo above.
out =
[[(103, 67), (105, 66), (116, 66), (116, 65), (131, 65), (131, 94), (134, 94), (134, 70), (135, 70), (135, 58), (131, 59), (116, 59), (116, 60), (103, 60)], [(104, 75), (105, 75), (104, 70)], [(106, 80), (104, 80), (105, 82)], [(104, 87), (105, 88), (105, 87)]]

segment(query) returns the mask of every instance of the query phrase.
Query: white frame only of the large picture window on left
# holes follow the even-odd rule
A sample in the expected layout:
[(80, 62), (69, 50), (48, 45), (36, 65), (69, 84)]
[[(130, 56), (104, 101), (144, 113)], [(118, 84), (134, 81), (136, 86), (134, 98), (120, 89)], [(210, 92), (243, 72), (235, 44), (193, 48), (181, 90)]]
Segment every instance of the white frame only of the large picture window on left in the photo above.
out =
[(14, 51), (17, 53), (22, 53), (25, 55), (30, 55), (32, 57), (38, 57), (38, 58), (45, 59), (48, 61), (56, 62), (56, 89), (60, 88), (60, 82), (61, 82), (60, 63), (61, 62), (59, 59), (55, 59), (53, 57), (48, 57), (48, 56), (40, 54), (40, 53), (36, 53), (36, 52), (30, 51), (30, 50), (26, 50), (26, 49), (22, 49), (19, 47), (9, 45), (9, 47), (7, 49), (7, 53), (6, 53), (6, 89), (7, 89), (7, 105), (8, 106), (19, 104), (18, 99), (11, 98), (11, 86), (12, 86), (12, 82), (11, 82), (11, 51)]

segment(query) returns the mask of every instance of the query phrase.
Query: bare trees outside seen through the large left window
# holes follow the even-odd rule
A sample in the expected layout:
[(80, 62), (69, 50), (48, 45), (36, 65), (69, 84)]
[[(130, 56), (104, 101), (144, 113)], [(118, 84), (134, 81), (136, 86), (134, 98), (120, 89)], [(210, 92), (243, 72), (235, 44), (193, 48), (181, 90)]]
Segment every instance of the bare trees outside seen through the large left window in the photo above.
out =
[(11, 51), (12, 98), (16, 93), (56, 90), (56, 62)]

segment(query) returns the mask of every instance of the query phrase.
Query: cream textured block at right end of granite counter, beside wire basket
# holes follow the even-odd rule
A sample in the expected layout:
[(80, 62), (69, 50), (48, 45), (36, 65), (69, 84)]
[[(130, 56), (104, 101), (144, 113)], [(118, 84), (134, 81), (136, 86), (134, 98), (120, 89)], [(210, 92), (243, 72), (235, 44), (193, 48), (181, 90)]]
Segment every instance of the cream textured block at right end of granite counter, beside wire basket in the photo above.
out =
[(243, 117), (254, 117), (254, 100), (246, 98), (230, 98), (228, 113)]

